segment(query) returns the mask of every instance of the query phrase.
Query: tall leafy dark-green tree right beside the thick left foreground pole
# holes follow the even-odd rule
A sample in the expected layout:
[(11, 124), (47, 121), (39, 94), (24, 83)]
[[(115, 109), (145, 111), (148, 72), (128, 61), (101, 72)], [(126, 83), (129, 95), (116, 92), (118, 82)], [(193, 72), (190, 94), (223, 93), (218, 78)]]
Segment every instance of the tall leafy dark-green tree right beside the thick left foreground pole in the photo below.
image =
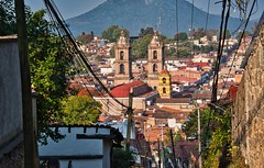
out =
[(28, 21), (31, 82), (37, 92), (38, 139), (62, 138), (50, 124), (62, 122), (62, 100), (67, 97), (67, 74), (72, 56), (66, 53), (64, 42), (53, 32), (53, 24), (44, 19), (45, 11), (37, 11)]

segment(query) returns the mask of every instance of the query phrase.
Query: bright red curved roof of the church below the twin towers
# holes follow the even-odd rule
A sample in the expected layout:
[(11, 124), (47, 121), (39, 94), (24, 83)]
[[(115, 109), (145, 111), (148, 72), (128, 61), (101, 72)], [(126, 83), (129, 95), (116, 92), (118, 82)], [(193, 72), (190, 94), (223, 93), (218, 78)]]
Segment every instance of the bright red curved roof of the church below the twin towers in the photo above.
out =
[(113, 88), (111, 90), (111, 93), (116, 98), (128, 98), (131, 88), (136, 87), (136, 86), (141, 86), (143, 83), (144, 83), (144, 81), (136, 80), (136, 81), (133, 81), (133, 82), (130, 82), (130, 83), (117, 86), (116, 88)]

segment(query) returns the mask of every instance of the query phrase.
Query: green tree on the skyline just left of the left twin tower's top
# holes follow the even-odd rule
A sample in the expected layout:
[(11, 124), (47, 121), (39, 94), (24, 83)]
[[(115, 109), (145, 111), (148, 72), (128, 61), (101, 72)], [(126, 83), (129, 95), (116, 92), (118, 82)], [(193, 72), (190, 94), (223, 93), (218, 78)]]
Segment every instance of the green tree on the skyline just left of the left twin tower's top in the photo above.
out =
[(124, 32), (124, 36), (129, 36), (129, 31), (127, 29), (121, 29), (118, 25), (110, 25), (101, 34), (102, 38), (108, 40), (110, 43), (117, 42), (121, 35), (121, 31)]

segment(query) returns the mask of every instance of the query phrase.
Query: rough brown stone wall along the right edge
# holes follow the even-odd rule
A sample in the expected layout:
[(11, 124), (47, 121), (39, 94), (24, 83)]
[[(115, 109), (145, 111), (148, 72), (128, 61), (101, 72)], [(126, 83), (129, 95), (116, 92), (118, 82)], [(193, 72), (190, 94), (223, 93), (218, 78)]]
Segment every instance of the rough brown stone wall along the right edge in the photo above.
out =
[(264, 14), (244, 63), (244, 75), (232, 108), (232, 138), (249, 167), (264, 160)]

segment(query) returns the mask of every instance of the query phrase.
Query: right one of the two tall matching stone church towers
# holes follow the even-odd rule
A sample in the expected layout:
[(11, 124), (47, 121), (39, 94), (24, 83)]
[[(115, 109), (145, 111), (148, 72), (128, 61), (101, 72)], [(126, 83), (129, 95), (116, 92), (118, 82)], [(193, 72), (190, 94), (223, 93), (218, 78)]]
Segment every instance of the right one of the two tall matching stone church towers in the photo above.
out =
[(147, 47), (147, 83), (153, 89), (158, 87), (158, 72), (164, 67), (164, 46), (157, 32), (154, 32), (151, 43)]

